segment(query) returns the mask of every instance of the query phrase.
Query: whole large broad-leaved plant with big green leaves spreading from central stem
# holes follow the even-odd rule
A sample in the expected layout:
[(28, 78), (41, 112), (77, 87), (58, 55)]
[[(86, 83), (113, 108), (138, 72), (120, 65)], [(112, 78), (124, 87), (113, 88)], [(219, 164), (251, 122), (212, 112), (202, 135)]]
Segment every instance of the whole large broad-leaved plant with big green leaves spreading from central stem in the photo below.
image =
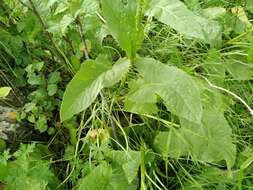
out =
[[(158, 104), (162, 102), (171, 116), (177, 118), (178, 125), (165, 122), (167, 130), (157, 131), (153, 142), (156, 152), (165, 157), (190, 156), (209, 163), (226, 161), (231, 168), (236, 148), (232, 143), (232, 130), (224, 117), (223, 95), (202, 78), (154, 58), (137, 55), (144, 39), (144, 16), (154, 17), (186, 38), (207, 44), (220, 38), (219, 25), (195, 15), (179, 0), (102, 0), (101, 9), (110, 35), (126, 52), (126, 57), (116, 63), (103, 55), (85, 61), (66, 88), (61, 121), (85, 111), (104, 88), (122, 81), (121, 86), (123, 83), (128, 87), (123, 95), (122, 110), (152, 117), (159, 112)], [(128, 77), (130, 73), (131, 77), (134, 73), (133, 80)], [(138, 162), (137, 168), (139, 165)], [(108, 175), (112, 172), (106, 164), (96, 170), (101, 168)]]

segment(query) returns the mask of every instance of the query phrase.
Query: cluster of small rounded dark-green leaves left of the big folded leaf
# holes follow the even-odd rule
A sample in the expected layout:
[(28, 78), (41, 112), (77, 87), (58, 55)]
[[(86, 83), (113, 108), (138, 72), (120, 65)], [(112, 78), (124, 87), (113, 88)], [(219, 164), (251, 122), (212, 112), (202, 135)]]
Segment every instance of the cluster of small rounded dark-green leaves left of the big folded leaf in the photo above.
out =
[[(47, 78), (41, 73), (44, 67), (43, 62), (35, 62), (26, 67), (27, 82), (36, 88), (28, 96), (29, 103), (24, 105), (19, 119), (27, 118), (35, 124), (35, 129), (45, 132), (48, 129), (48, 120), (53, 117), (52, 111), (57, 109), (61, 97), (58, 83), (61, 81), (60, 73), (55, 71), (49, 73)], [(52, 133), (53, 128), (49, 131)]]

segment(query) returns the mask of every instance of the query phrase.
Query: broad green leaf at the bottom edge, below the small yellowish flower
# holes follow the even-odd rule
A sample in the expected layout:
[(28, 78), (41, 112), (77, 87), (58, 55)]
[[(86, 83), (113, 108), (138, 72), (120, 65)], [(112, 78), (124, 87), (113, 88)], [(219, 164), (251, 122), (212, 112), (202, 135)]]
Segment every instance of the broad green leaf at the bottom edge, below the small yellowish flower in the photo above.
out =
[(135, 190), (140, 165), (140, 152), (109, 151), (105, 154), (111, 163), (102, 163), (82, 178), (78, 190)]

